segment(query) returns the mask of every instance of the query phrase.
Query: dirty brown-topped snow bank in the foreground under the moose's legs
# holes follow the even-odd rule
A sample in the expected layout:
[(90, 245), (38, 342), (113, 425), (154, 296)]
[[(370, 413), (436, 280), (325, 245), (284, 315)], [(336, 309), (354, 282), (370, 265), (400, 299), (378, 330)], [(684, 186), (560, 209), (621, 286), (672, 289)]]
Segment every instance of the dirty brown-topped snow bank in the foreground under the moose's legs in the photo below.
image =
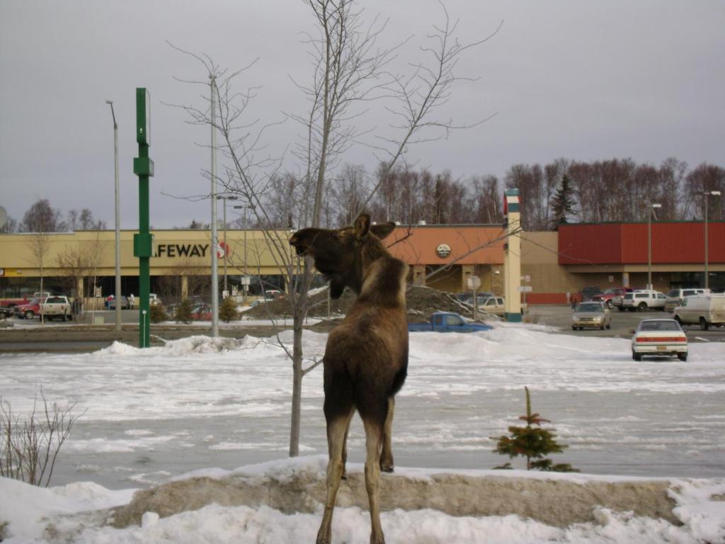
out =
[[(10, 544), (312, 542), (325, 465), (312, 456), (196, 471), (133, 500), (133, 490), (0, 479), (0, 524)], [(348, 473), (333, 540), (367, 543), (363, 467)], [(724, 492), (725, 479), (398, 469), (382, 478), (381, 519), (387, 540), (404, 544), (721, 543)]]

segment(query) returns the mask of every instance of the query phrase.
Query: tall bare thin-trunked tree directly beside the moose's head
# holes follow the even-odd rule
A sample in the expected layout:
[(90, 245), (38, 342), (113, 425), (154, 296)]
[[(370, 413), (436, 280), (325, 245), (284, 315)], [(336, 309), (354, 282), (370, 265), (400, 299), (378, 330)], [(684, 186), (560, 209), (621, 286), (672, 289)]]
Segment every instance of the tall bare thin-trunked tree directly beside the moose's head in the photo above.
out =
[[(362, 12), (357, 11), (352, 0), (305, 0), (305, 4), (315, 21), (314, 33), (305, 34), (305, 44), (312, 56), (312, 74), (309, 83), (294, 81), (294, 84), (307, 97), (309, 109), (303, 114), (287, 114), (302, 127), (302, 138), (291, 151), (299, 160), (299, 175), (294, 176), (294, 185), (286, 189), (286, 202), (290, 203), (291, 210), (289, 225), (321, 226), (323, 219), (333, 216), (323, 196), (334, 179), (334, 168), (341, 154), (363, 136), (364, 131), (356, 124), (365, 113), (363, 107), (373, 99), (392, 100), (386, 107), (399, 120), (393, 128), (400, 136), (381, 139), (373, 147), (375, 153), (386, 157), (386, 170), (392, 170), (410, 144), (436, 139), (464, 126), (436, 119), (434, 115), (450, 98), (459, 79), (453, 74), (457, 59), (488, 38), (474, 44), (460, 44), (455, 39), (456, 23), (450, 21), (444, 9), (444, 22), (434, 28), (431, 36), (433, 45), (423, 48), (429, 55), (428, 61), (413, 64), (412, 75), (392, 75), (386, 72), (386, 66), (397, 48), (378, 46), (384, 24), (377, 20), (371, 25), (365, 24)], [(286, 271), (294, 332), (293, 345), (288, 350), (293, 368), (289, 454), (297, 456), (302, 378), (319, 363), (303, 368), (302, 325), (310, 306), (307, 291), (312, 282), (312, 262), (309, 258), (299, 260), (294, 255), (289, 246), (289, 230), (277, 228), (279, 217), (265, 206), (265, 199), (276, 188), (281, 162), (260, 155), (267, 127), (252, 133), (252, 123), (245, 122), (256, 90), (252, 87), (240, 92), (233, 87), (236, 78), (246, 69), (230, 74), (207, 55), (191, 55), (210, 76), (219, 104), (216, 116), (208, 107), (202, 110), (183, 106), (193, 123), (213, 124), (219, 131), (225, 166), (223, 175), (215, 182), (249, 207), (262, 228), (276, 265)], [(208, 84), (207, 81), (188, 83)], [(377, 190), (375, 186), (368, 193), (361, 208), (368, 205)], [(360, 210), (355, 211), (353, 215)]]

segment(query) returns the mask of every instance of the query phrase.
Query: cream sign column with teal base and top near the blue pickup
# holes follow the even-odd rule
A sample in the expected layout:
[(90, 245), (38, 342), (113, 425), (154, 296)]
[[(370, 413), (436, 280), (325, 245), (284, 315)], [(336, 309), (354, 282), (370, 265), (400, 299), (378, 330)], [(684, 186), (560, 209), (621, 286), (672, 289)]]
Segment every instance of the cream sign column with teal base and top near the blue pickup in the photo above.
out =
[[(503, 213), (505, 228), (508, 234), (504, 243), (504, 306), (506, 321), (521, 323), (521, 199), (518, 189), (504, 191)], [(515, 234), (512, 234), (515, 233)]]

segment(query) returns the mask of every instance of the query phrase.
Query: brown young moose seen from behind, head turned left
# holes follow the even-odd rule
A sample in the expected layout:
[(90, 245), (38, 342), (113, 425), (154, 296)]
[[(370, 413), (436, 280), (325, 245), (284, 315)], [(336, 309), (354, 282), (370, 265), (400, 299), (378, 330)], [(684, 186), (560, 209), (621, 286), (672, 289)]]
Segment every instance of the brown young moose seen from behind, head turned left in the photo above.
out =
[(289, 241), (297, 255), (314, 258), (315, 268), (330, 280), (332, 297), (339, 298), (346, 286), (358, 294), (344, 321), (331, 331), (323, 358), (330, 459), (318, 544), (330, 542), (335, 497), (344, 474), (347, 430), (355, 409), (365, 426), (370, 543), (385, 542), (378, 481), (381, 469), (392, 471), (393, 397), (405, 382), (408, 358), (407, 265), (392, 257), (381, 242), (393, 228), (392, 223), (371, 226), (370, 216), (360, 215), (353, 227), (303, 228)]

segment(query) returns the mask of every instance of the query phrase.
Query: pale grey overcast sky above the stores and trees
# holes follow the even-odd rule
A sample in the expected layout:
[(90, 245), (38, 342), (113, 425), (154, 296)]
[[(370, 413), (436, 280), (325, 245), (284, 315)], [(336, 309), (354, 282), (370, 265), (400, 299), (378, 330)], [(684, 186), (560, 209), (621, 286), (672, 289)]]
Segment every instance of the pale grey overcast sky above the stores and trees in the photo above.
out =
[[(367, 0), (365, 17), (389, 19), (381, 37), (420, 59), (436, 0)], [(418, 168), (451, 171), (454, 178), (494, 174), (515, 163), (558, 157), (631, 157), (658, 165), (667, 157), (725, 166), (725, 2), (721, 0), (448, 0), (458, 36), (494, 38), (467, 51), (462, 81), (442, 116), (488, 122), (450, 138), (410, 149)], [(209, 168), (209, 129), (186, 123), (164, 103), (203, 106), (203, 89), (175, 81), (204, 79), (183, 49), (209, 54), (232, 70), (259, 58), (240, 83), (260, 86), (253, 116), (283, 120), (307, 103), (290, 76), (308, 81), (312, 30), (302, 0), (0, 0), (0, 205), (18, 221), (39, 198), (64, 213), (89, 207), (114, 224), (114, 101), (119, 130), (121, 228), (138, 228), (138, 183), (133, 175), (135, 88), (152, 96), (151, 221), (156, 228), (209, 221), (202, 170)], [(307, 80), (306, 80), (307, 78)], [(381, 108), (363, 129), (389, 130)], [(270, 154), (297, 141), (294, 123), (268, 133)], [(372, 169), (376, 159), (357, 147), (347, 162)], [(289, 159), (289, 168), (294, 161)], [(168, 196), (173, 195), (173, 196)], [(228, 219), (234, 215), (230, 212)]]

